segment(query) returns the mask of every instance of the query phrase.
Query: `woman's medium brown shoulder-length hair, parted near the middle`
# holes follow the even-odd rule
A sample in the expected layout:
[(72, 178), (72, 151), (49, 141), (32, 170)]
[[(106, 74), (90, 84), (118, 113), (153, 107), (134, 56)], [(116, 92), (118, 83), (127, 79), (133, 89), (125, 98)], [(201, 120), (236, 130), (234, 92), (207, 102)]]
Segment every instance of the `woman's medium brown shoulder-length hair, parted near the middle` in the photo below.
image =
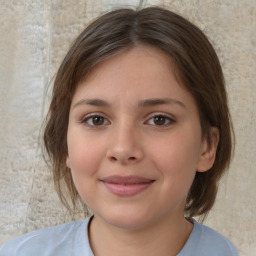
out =
[(214, 204), (218, 182), (232, 154), (233, 129), (224, 77), (204, 33), (160, 7), (118, 9), (104, 14), (85, 28), (71, 46), (55, 78), (44, 131), (55, 187), (64, 205), (69, 210), (76, 209), (80, 197), (66, 167), (66, 156), (69, 110), (78, 83), (101, 61), (138, 44), (154, 46), (170, 56), (179, 81), (196, 101), (203, 136), (210, 141), (210, 127), (219, 129), (214, 165), (207, 172), (196, 173), (185, 206), (186, 216), (204, 217)]

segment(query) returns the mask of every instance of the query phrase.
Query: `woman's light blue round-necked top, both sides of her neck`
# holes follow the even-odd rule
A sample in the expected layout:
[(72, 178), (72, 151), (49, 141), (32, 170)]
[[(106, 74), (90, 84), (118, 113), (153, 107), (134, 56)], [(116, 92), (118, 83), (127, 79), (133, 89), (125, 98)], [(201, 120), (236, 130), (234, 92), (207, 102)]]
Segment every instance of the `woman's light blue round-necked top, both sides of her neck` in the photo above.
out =
[[(90, 219), (37, 230), (8, 241), (0, 256), (94, 256), (88, 240)], [(177, 256), (238, 256), (235, 246), (193, 220), (194, 228)]]

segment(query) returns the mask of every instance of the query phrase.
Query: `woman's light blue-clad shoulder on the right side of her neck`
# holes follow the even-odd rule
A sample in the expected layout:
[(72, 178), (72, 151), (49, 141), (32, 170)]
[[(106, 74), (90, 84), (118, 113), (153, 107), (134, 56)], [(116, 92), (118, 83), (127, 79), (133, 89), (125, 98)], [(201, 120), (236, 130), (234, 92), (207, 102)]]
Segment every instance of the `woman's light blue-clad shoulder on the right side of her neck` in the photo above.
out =
[(193, 222), (193, 231), (179, 256), (238, 256), (234, 244), (228, 238), (196, 220)]

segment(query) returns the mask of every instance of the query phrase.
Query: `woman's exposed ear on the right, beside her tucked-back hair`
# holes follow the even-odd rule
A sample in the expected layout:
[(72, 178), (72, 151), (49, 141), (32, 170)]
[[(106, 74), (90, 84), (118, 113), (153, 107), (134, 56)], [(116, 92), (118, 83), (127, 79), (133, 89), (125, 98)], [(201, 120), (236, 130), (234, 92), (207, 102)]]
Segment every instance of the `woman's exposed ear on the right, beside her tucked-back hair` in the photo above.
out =
[(210, 128), (210, 138), (202, 140), (200, 157), (197, 164), (198, 172), (206, 172), (212, 168), (219, 144), (219, 137), (219, 129), (212, 126)]

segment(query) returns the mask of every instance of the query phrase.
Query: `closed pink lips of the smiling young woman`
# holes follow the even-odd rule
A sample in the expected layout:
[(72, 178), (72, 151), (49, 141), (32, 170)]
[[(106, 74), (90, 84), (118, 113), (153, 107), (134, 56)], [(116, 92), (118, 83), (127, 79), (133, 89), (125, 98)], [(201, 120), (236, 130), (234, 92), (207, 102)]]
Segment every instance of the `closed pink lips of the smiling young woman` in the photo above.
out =
[(101, 179), (105, 187), (117, 196), (134, 196), (149, 188), (155, 180), (140, 176), (113, 175)]

